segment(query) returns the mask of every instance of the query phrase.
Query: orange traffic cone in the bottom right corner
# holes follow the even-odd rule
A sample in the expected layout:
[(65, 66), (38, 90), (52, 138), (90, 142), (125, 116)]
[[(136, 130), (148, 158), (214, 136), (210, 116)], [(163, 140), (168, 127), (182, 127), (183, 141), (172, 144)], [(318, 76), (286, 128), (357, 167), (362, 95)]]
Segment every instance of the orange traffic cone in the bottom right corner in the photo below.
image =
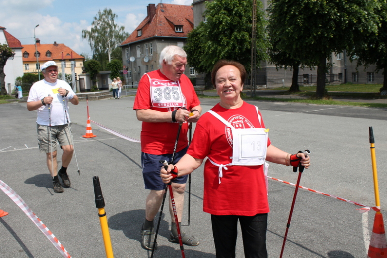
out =
[(387, 258), (385, 226), (383, 225), (383, 216), (380, 212), (375, 214), (367, 258)]

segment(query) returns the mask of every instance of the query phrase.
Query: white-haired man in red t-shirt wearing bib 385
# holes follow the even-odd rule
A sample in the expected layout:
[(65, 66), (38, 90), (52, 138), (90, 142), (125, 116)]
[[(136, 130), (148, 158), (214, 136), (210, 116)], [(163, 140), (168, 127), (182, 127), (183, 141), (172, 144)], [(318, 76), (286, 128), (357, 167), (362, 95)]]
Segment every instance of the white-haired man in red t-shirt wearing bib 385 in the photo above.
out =
[[(141, 164), (145, 188), (150, 190), (146, 198), (145, 222), (141, 235), (143, 248), (152, 250), (154, 244), (154, 224), (164, 194), (165, 184), (160, 178), (160, 160), (171, 160), (179, 123), (181, 132), (178, 139), (174, 163), (186, 153), (189, 122), (197, 122), (202, 108), (194, 86), (186, 75), (187, 54), (177, 46), (167, 46), (160, 54), (161, 68), (145, 73), (139, 84), (133, 109), (137, 119), (142, 121)], [(184, 107), (184, 108), (182, 108)], [(189, 116), (194, 113), (193, 116)], [(183, 213), (184, 192), (187, 176), (172, 181), (173, 195), (179, 224)], [(169, 241), (179, 243), (172, 206), (172, 220)], [(182, 233), (186, 245), (197, 246), (198, 240)]]

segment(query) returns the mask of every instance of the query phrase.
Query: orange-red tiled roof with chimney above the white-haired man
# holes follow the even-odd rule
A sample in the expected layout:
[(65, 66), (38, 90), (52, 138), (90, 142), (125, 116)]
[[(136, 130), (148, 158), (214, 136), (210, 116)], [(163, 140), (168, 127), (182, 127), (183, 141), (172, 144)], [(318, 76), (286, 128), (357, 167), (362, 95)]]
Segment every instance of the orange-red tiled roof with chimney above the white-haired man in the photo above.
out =
[[(154, 7), (153, 7), (154, 8)], [(175, 32), (175, 26), (183, 26), (183, 32)], [(187, 37), (194, 28), (194, 10), (192, 6), (159, 3), (152, 20), (147, 16), (130, 36), (121, 43), (126, 45), (135, 41), (151, 37)], [(142, 35), (137, 36), (137, 31)]]

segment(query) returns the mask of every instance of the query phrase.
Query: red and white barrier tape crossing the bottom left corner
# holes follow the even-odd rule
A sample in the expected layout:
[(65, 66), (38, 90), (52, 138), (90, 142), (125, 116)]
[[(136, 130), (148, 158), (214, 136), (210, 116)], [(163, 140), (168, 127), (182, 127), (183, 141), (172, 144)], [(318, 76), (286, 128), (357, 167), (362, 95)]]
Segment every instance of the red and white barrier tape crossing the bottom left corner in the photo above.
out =
[(61, 252), (66, 258), (71, 258), (65, 247), (59, 242), (53, 233), (46, 227), (45, 224), (32, 212), (32, 210), (25, 204), (23, 199), (16, 194), (16, 192), (10, 188), (7, 184), (0, 180), (0, 188), (24, 213), (35, 223), (35, 225), (43, 232), (43, 234), (50, 240), (50, 242)]

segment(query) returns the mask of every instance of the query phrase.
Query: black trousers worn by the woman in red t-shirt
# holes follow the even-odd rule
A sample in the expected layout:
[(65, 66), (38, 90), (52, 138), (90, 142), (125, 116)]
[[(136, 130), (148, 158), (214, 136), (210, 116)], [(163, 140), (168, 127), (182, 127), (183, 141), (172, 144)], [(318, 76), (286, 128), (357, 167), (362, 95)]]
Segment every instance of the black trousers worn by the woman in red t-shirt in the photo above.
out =
[(242, 229), (245, 258), (267, 258), (267, 213), (251, 217), (211, 215), (216, 258), (235, 258), (238, 220)]

